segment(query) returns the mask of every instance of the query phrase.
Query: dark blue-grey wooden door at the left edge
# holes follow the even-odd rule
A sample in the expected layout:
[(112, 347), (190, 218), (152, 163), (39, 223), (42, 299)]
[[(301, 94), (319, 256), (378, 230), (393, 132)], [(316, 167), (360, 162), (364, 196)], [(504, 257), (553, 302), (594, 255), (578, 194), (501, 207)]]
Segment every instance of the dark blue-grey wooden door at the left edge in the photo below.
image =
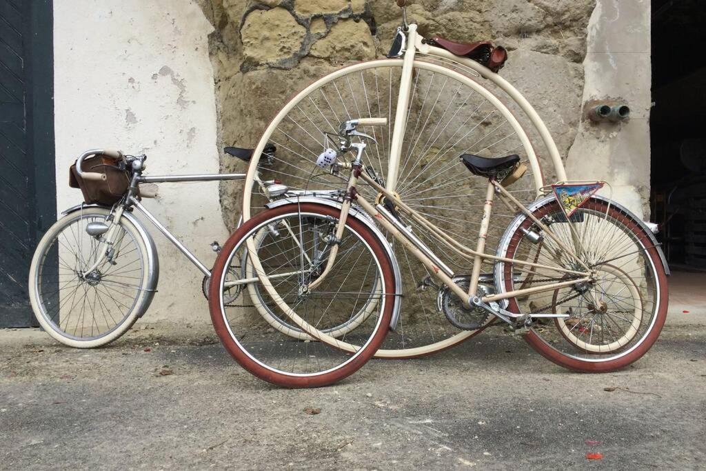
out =
[(0, 0), (0, 327), (34, 323), (32, 253), (56, 220), (52, 0)]

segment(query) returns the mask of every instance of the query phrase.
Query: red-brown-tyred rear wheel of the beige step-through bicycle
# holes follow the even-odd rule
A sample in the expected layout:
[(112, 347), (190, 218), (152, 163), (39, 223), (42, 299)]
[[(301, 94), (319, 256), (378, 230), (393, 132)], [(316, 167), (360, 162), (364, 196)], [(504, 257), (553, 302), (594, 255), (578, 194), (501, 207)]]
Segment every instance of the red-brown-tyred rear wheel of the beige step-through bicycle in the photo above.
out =
[[(575, 371), (614, 371), (642, 357), (657, 340), (669, 303), (666, 273), (650, 236), (633, 215), (598, 198), (568, 219), (554, 200), (533, 215), (549, 222), (565, 246), (578, 247), (596, 275), (594, 282), (509, 299), (508, 310), (515, 313), (568, 314), (532, 328), (525, 340), (547, 359)], [(525, 231), (542, 234), (530, 218), (518, 217), (498, 255), (546, 268), (498, 263), (496, 276), (504, 278), (506, 291), (581, 278), (552, 269), (582, 270), (559, 244), (546, 234), (534, 243)]]

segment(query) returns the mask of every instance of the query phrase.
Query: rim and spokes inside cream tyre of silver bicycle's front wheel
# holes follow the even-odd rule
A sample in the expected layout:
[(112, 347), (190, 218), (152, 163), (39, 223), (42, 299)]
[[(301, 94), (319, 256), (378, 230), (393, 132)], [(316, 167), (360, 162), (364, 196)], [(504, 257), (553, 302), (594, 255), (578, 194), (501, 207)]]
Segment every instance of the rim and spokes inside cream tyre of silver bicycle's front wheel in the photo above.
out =
[(99, 243), (85, 232), (103, 213), (84, 210), (68, 220), (44, 246), (35, 275), (40, 315), (62, 338), (92, 341), (121, 328), (133, 313), (145, 280), (144, 255), (136, 234), (121, 226), (113, 261), (80, 276), (97, 258)]

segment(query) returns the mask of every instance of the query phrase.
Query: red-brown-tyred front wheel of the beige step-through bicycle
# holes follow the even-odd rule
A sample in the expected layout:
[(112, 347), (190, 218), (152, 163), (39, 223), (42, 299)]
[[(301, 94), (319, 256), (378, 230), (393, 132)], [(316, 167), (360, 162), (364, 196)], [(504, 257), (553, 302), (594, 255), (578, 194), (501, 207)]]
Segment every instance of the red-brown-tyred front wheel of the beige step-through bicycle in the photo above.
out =
[[(335, 208), (311, 203), (260, 213), (228, 239), (217, 258), (209, 292), (213, 325), (228, 352), (258, 378), (288, 388), (335, 383), (363, 366), (388, 333), (395, 295), (393, 268), (383, 243), (359, 220), (347, 220), (325, 280), (306, 289), (328, 261), (339, 214)], [(263, 228), (268, 236), (258, 246)], [(244, 275), (244, 254), (251, 258), (255, 278)], [(270, 309), (279, 310), (280, 318), (313, 340), (292, 338), (257, 312), (225, 304), (230, 287), (251, 283), (262, 285), (260, 292)], [(325, 333), (370, 304), (375, 311), (351, 332), (340, 338)]]

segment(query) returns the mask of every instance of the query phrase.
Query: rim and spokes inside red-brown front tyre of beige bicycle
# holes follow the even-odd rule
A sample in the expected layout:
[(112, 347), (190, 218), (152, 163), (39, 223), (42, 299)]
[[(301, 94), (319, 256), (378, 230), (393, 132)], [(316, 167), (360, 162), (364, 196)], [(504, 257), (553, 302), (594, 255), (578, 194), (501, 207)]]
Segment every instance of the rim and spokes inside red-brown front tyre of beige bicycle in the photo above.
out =
[[(226, 258), (225, 267), (228, 272), (243, 273), (239, 270), (241, 268), (239, 264), (246, 245), (249, 241), (254, 242), (262, 227), (268, 227), (268, 225), (278, 227), (282, 220), (287, 220), (287, 225), (299, 234), (299, 241), (301, 241), (299, 244), (304, 246), (304, 254), (301, 254), (297, 244), (294, 244), (288, 235), (277, 237), (272, 234), (270, 236), (272, 241), (263, 241), (258, 249), (258, 261), (262, 269), (256, 266), (255, 270), (261, 271), (263, 275), (270, 278), (277, 294), (282, 297), (285, 309), (291, 306), (291, 309), (294, 309), (309, 326), (322, 333), (321, 338), (325, 337), (324, 330), (330, 330), (330, 325), (339, 326), (343, 323), (342, 318), (355, 316), (360, 311), (360, 305), (365, 304), (366, 299), (373, 294), (377, 296), (376, 311), (362, 321), (353, 332), (342, 335), (340, 340), (330, 338), (328, 342), (304, 340), (286, 335), (270, 327), (270, 323), (259, 314), (248, 314), (242, 309), (228, 309), (222, 295), (219, 300), (219, 316), (225, 323), (229, 337), (238, 345), (239, 350), (270, 373), (299, 378), (330, 374), (357, 361), (359, 355), (366, 351), (376, 333), (382, 328), (383, 313), (387, 309), (385, 297), (381, 292), (372, 291), (376, 290), (373, 286), (375, 283), (371, 283), (368, 277), (350, 276), (350, 273), (354, 273), (355, 270), (372, 269), (376, 270), (378, 277), (382, 278), (381, 262), (373, 255), (369, 242), (357, 232), (348, 229), (341, 239), (340, 254), (336, 259), (335, 268), (327, 280), (318, 289), (306, 294), (306, 297), (300, 296), (299, 287), (302, 285), (302, 277), (308, 284), (310, 279), (316, 276), (317, 272), (312, 268), (318, 266), (314, 260), (316, 251), (321, 249), (322, 239), (319, 236), (322, 230), (328, 230), (332, 218), (313, 213), (289, 213), (273, 217), (244, 234)], [(265, 253), (268, 248), (271, 251)], [(286, 276), (277, 278), (280, 275)], [(232, 275), (227, 275), (224, 270), (220, 278), (221, 286), (232, 281), (237, 280), (234, 280)], [(263, 287), (261, 292), (270, 294), (267, 287)], [(265, 302), (272, 304), (270, 310), (278, 309), (282, 312), (280, 316), (286, 316), (282, 311), (282, 302), (277, 302), (273, 298)], [(296, 325), (296, 322), (292, 321), (292, 323)]]

